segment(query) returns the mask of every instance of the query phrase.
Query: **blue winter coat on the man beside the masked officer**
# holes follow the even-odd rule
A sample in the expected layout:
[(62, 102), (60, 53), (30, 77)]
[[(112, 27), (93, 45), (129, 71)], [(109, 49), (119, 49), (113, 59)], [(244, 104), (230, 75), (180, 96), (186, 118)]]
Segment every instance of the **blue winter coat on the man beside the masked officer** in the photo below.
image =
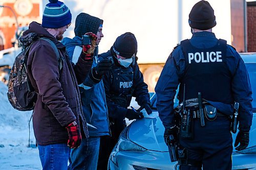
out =
[[(70, 56), (70, 60), (74, 63), (77, 61), (73, 58), (74, 53), (81, 53), (81, 38), (75, 36), (73, 39), (64, 38), (62, 43), (66, 46)], [(76, 55), (74, 55), (76, 56)], [(98, 47), (94, 52), (94, 60), (92, 68), (98, 63)], [(82, 84), (79, 85), (82, 111), (86, 121), (89, 124), (88, 130), (90, 136), (110, 135), (108, 108), (106, 106), (105, 91), (103, 82), (95, 84), (89, 76)], [(92, 125), (92, 126), (90, 126)], [(95, 128), (94, 128), (95, 127)]]

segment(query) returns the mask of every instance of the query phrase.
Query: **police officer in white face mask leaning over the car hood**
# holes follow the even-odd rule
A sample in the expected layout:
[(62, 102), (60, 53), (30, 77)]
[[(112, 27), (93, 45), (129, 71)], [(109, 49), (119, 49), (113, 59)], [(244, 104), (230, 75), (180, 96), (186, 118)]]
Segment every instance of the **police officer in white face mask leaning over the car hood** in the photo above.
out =
[[(112, 136), (101, 138), (98, 169), (107, 168), (110, 153), (120, 133), (126, 127), (124, 118), (129, 120), (142, 118), (140, 111), (143, 108), (148, 114), (152, 113), (150, 95), (139, 70), (136, 54), (137, 40), (134, 34), (127, 32), (117, 37), (110, 51), (99, 55), (99, 59), (113, 60), (113, 65), (109, 74), (103, 77)], [(137, 111), (127, 109), (132, 96), (141, 106)]]

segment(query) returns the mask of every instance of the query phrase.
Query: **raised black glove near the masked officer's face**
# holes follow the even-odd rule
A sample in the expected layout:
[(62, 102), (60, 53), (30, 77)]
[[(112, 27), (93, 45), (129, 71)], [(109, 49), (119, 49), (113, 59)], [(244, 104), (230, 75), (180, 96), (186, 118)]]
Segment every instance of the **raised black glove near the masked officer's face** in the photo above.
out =
[(93, 67), (89, 72), (89, 77), (94, 83), (99, 83), (104, 74), (107, 74), (111, 69), (111, 61), (108, 59), (101, 60), (96, 67)]

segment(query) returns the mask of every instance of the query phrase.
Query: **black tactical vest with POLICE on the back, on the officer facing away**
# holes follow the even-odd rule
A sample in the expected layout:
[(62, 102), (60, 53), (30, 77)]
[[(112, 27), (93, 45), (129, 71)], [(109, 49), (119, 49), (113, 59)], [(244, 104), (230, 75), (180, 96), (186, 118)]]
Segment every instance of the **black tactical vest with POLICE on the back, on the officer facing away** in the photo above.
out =
[(219, 39), (214, 47), (197, 48), (188, 39), (181, 41), (185, 71), (180, 78), (179, 101), (198, 97), (209, 101), (233, 104), (231, 74), (226, 65), (226, 41)]

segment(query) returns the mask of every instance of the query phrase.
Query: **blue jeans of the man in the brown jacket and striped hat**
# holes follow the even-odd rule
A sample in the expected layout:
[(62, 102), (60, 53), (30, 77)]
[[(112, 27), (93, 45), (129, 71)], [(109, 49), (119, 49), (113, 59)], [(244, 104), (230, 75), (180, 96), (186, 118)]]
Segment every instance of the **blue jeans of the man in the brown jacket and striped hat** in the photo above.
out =
[(70, 148), (67, 143), (38, 145), (43, 170), (67, 170)]

